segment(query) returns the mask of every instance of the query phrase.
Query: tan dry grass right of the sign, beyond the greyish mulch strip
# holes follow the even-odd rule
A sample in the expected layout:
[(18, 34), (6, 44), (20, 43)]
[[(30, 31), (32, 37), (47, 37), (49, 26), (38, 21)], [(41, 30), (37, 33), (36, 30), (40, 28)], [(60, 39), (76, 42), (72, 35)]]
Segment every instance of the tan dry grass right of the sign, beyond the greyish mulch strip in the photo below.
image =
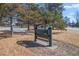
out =
[(70, 43), (79, 47), (79, 32), (75, 31), (54, 31), (54, 39)]

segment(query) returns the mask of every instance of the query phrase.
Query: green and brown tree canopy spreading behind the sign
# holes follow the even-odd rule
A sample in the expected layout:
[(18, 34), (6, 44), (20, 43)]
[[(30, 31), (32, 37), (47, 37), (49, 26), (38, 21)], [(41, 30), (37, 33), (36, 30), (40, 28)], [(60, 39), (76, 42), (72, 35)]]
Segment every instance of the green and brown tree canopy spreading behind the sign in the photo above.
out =
[(51, 25), (53, 29), (64, 29), (66, 24), (63, 20), (62, 3), (26, 3), (26, 4), (0, 4), (0, 23), (3, 18), (8, 18), (12, 30), (13, 17), (17, 21), (23, 21), (27, 24), (28, 30), (30, 25), (41, 23)]

